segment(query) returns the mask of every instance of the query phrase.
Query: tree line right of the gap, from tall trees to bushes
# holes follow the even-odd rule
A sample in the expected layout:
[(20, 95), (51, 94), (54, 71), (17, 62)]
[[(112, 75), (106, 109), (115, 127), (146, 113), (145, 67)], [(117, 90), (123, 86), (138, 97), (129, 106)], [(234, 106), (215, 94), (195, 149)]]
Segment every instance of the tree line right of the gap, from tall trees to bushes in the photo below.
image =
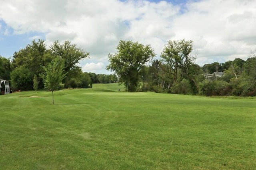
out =
[(130, 92), (256, 96), (256, 50), (246, 61), (237, 58), (201, 67), (195, 64), (198, 51), (193, 51), (193, 41), (184, 39), (168, 41), (160, 59), (154, 59), (150, 45), (138, 42), (120, 41), (116, 49), (108, 55), (106, 68)]

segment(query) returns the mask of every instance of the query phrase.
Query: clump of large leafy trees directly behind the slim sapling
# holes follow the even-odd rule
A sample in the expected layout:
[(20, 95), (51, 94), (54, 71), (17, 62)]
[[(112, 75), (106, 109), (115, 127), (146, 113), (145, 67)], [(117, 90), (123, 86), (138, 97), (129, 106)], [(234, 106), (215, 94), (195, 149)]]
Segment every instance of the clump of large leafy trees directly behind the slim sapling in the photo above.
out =
[[(43, 89), (44, 83), (39, 75), (45, 72), (44, 67), (48, 66), (55, 58), (60, 58), (64, 61), (64, 73), (67, 74), (63, 80), (64, 86), (66, 88), (82, 87), (79, 80), (82, 69), (77, 64), (80, 60), (87, 58), (88, 55), (89, 53), (78, 48), (76, 44), (72, 44), (70, 41), (64, 41), (64, 43), (55, 41), (50, 48), (47, 48), (44, 40), (33, 40), (24, 49), (15, 52), (12, 62), (9, 62), (12, 68), (9, 71), (11, 72), (11, 77), (9, 77), (11, 78), (12, 88), (32, 90), (34, 85), (33, 77), (36, 75), (38, 77), (38, 89)], [(24, 72), (26, 74), (23, 74)]]

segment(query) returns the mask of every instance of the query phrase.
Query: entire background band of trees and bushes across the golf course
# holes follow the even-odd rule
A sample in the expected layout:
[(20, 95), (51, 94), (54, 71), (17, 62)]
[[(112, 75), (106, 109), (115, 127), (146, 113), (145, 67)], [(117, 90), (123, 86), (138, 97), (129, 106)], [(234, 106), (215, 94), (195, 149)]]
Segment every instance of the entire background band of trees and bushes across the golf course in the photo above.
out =
[[(130, 92), (199, 94), (206, 96), (256, 96), (256, 50), (246, 61), (236, 58), (226, 63), (195, 64), (197, 51), (192, 41), (168, 41), (156, 59), (150, 45), (120, 41), (117, 53), (109, 54), (106, 67), (114, 74), (82, 72), (78, 63), (89, 53), (70, 41), (47, 48), (44, 40), (32, 41), (12, 58), (0, 57), (0, 78), (10, 80), (12, 91), (44, 89), (40, 75), (56, 57), (64, 63), (62, 88), (90, 88), (95, 83), (123, 83)], [(34, 81), (33, 81), (34, 80)]]

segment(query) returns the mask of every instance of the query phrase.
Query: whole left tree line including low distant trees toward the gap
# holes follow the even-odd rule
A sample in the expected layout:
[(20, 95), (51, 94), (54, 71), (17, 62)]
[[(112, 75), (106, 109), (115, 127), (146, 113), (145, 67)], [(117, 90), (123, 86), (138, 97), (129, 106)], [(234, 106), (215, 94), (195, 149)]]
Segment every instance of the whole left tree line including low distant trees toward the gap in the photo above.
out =
[[(33, 90), (34, 79), (38, 82), (37, 88), (44, 89), (42, 75), (45, 67), (54, 59), (63, 61), (65, 77), (58, 88), (90, 88), (93, 83), (113, 83), (118, 78), (114, 74), (95, 74), (82, 72), (78, 66), (80, 60), (88, 58), (89, 53), (78, 48), (70, 41), (60, 43), (55, 41), (47, 48), (45, 41), (33, 40), (24, 49), (14, 52), (11, 59), (0, 56), (0, 78), (10, 80), (12, 90)], [(60, 62), (61, 63), (61, 62)]]

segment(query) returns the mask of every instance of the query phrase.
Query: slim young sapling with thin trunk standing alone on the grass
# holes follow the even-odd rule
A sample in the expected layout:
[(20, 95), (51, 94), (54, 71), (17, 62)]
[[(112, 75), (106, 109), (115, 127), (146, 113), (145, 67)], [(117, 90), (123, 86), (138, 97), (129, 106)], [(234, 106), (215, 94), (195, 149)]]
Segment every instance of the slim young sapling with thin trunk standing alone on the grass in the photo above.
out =
[(43, 67), (45, 73), (40, 74), (44, 80), (44, 87), (52, 92), (52, 104), (54, 104), (53, 91), (58, 90), (60, 82), (66, 76), (64, 73), (64, 61), (56, 57), (48, 66)]

